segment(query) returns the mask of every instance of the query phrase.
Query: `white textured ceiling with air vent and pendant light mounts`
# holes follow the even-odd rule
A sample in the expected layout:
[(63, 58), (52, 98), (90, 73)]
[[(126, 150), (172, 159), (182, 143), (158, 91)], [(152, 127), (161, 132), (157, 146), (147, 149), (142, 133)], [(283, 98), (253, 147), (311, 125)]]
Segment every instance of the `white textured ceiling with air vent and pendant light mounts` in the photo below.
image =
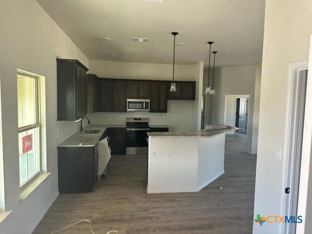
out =
[(184, 43), (176, 46), (177, 63), (207, 64), (209, 40), (219, 52), (216, 66), (262, 60), (265, 0), (37, 1), (89, 59), (172, 63), (177, 31), (176, 42)]

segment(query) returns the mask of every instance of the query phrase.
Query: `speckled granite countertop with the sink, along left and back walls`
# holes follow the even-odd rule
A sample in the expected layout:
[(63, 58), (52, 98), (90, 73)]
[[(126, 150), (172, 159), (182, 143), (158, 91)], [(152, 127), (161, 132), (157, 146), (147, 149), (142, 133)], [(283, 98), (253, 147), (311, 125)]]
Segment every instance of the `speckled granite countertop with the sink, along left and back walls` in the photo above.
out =
[(98, 143), (106, 128), (125, 128), (126, 125), (102, 125), (102, 124), (90, 124), (84, 128), (84, 130), (100, 129), (99, 133), (92, 134), (81, 134), (80, 132), (75, 133), (73, 136), (69, 137), (58, 147), (92, 147)]

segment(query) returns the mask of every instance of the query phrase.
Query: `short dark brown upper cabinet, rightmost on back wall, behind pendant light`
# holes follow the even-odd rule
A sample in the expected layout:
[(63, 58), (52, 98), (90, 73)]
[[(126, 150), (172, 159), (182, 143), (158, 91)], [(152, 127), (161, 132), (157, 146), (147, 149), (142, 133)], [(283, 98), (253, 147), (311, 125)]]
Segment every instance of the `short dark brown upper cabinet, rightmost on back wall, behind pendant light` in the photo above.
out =
[(195, 100), (196, 82), (195, 81), (176, 81), (176, 92), (170, 92), (168, 83), (168, 100)]

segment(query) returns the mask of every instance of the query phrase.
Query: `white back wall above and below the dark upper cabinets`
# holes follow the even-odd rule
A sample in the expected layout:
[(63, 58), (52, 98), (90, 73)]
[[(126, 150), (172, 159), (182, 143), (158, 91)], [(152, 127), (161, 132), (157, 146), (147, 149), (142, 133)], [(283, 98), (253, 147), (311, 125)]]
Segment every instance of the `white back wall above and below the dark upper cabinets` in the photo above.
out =
[[(150, 124), (167, 124), (172, 126), (170, 131), (196, 130), (202, 72), (203, 62), (175, 66), (175, 80), (196, 81), (196, 99), (195, 101), (168, 100), (167, 113), (97, 112), (89, 114), (88, 117), (91, 123), (97, 124), (125, 124), (126, 117), (149, 117)], [(171, 80), (172, 65), (90, 60), (89, 73), (96, 74), (100, 78)]]

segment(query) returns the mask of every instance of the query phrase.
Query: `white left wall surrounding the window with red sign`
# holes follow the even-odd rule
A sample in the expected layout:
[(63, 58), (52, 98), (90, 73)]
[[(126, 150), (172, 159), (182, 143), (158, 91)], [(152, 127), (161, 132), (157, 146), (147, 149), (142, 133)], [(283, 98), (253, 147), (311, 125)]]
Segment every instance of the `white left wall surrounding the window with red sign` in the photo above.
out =
[[(6, 211), (13, 211), (0, 223), (0, 233), (28, 234), (58, 195), (56, 58), (78, 59), (87, 67), (89, 61), (35, 0), (1, 1), (0, 22), (3, 205)], [(51, 173), (47, 180), (22, 201), (19, 181), (17, 69), (45, 77), (46, 164), (47, 172)], [(50, 189), (48, 180), (51, 181)]]

